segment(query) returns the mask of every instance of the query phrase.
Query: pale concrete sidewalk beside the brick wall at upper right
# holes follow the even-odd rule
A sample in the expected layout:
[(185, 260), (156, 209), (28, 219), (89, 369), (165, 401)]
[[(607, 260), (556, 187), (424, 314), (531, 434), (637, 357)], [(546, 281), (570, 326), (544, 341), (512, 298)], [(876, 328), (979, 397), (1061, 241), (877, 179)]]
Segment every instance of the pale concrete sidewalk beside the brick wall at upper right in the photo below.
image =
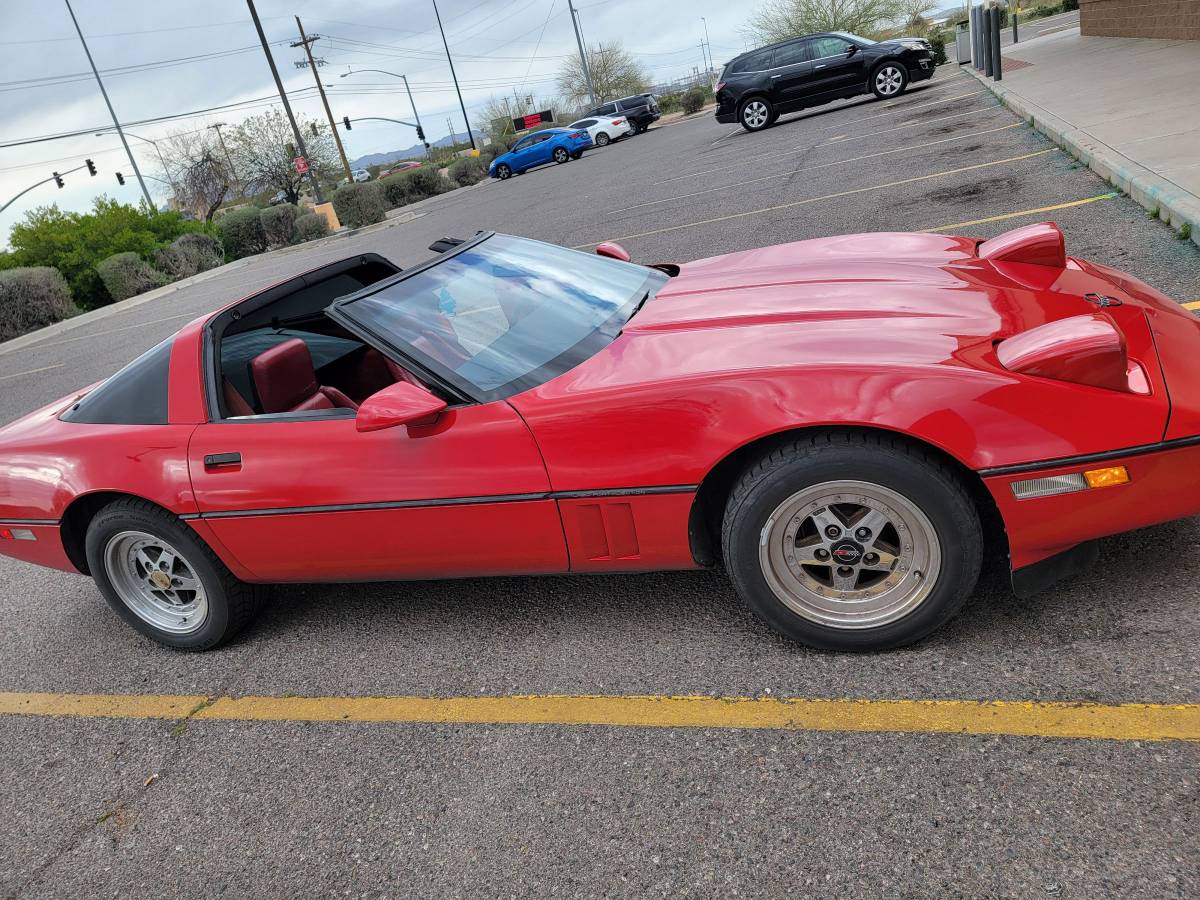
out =
[(1001, 50), (1001, 101), (1200, 244), (1200, 42), (1085, 37), (1078, 28)]

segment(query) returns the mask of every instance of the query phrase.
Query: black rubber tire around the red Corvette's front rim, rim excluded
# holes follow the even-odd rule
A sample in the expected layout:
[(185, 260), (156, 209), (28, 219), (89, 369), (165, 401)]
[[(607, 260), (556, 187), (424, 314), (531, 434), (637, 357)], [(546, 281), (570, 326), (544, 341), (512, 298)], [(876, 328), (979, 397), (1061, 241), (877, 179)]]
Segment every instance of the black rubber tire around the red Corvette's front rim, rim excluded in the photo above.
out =
[[(937, 538), (934, 587), (926, 583), (924, 599), (877, 626), (829, 625), (802, 614), (764, 572), (767, 529), (785, 521), (773, 515), (806, 488), (835, 481), (868, 482), (900, 496), (926, 517)], [(979, 577), (983, 533), (958, 474), (932, 455), (887, 436), (824, 432), (788, 442), (743, 472), (726, 504), (721, 546), (742, 599), (780, 634), (828, 650), (882, 650), (919, 641), (959, 612)], [(918, 572), (906, 577), (919, 581)]]

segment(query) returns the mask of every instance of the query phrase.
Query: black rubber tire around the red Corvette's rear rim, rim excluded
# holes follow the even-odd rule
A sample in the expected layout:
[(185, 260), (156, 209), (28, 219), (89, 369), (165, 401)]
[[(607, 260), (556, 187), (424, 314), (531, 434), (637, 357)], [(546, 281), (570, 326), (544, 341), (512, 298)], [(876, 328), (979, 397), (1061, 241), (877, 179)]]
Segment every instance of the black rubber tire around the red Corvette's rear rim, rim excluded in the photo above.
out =
[[(110, 541), (128, 532), (161, 538), (185, 557), (208, 598), (205, 619), (197, 630), (185, 635), (166, 631), (139, 617), (121, 598), (109, 576), (104, 554)], [(88, 526), (85, 551), (88, 568), (108, 605), (127, 625), (164, 647), (180, 650), (220, 647), (248, 625), (264, 602), (264, 587), (239, 581), (194, 532), (146, 500), (130, 498), (104, 506)]]

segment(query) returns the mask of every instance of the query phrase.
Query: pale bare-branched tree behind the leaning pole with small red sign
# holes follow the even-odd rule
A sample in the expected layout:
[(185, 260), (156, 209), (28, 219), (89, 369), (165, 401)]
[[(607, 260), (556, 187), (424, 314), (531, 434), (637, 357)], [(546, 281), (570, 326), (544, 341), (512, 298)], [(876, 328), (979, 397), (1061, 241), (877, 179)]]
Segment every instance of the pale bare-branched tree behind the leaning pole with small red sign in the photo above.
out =
[[(299, 116), (296, 124), (308, 149), (308, 166), (318, 176), (334, 178), (341, 164), (328, 126), (312, 131), (311, 119)], [(290, 203), (300, 202), (300, 187), (306, 180), (295, 170), (295, 137), (288, 118), (276, 108), (252, 115), (226, 139), (238, 178), (247, 191), (283, 191)]]

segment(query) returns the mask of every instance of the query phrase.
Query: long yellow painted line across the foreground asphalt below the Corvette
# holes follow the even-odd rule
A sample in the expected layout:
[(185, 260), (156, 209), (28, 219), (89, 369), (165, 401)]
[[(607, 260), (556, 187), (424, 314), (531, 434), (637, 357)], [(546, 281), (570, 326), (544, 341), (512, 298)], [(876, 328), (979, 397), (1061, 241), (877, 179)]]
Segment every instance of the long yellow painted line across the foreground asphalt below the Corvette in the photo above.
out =
[(217, 697), (0, 694), (0, 715), (1012, 734), (1200, 740), (1200, 704), (774, 697)]

